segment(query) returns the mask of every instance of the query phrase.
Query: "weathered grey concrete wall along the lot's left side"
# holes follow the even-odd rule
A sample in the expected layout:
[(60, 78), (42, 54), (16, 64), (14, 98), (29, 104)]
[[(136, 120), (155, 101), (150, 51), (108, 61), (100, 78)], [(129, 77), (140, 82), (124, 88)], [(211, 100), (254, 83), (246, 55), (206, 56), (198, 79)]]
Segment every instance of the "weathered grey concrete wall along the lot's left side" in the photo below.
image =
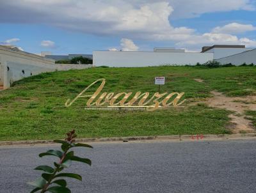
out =
[(3, 85), (4, 89), (9, 88), (14, 81), (38, 73), (92, 67), (92, 65), (55, 65), (53, 59), (28, 52), (13, 51), (1, 45), (0, 63), (0, 86)]

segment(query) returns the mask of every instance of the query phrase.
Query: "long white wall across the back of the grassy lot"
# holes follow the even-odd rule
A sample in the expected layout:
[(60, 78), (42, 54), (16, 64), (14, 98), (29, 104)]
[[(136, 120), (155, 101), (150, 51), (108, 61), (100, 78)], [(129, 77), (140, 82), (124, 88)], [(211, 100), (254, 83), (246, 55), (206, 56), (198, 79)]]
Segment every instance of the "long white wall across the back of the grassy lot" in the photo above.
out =
[(94, 66), (140, 67), (159, 65), (196, 65), (213, 59), (212, 53), (191, 52), (93, 52)]

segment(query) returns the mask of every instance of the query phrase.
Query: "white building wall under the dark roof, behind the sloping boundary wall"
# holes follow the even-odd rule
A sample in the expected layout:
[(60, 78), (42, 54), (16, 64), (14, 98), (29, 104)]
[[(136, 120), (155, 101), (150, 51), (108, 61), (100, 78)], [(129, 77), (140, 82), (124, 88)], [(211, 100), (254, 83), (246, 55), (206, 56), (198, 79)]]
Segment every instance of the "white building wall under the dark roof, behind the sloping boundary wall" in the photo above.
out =
[(211, 50), (207, 50), (204, 53), (214, 53), (213, 59), (220, 59), (224, 58), (227, 56), (231, 56), (234, 54), (239, 54), (241, 52), (245, 52), (248, 50), (252, 50), (252, 48), (219, 48), (219, 47), (214, 47)]

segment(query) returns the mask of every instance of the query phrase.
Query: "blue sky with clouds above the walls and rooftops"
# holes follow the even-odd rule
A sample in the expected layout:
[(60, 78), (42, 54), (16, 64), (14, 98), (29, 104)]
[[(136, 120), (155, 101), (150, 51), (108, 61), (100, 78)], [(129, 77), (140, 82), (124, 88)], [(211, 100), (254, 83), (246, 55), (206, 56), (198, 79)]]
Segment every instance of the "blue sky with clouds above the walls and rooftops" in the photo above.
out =
[(61, 55), (256, 47), (256, 0), (0, 0), (0, 43)]

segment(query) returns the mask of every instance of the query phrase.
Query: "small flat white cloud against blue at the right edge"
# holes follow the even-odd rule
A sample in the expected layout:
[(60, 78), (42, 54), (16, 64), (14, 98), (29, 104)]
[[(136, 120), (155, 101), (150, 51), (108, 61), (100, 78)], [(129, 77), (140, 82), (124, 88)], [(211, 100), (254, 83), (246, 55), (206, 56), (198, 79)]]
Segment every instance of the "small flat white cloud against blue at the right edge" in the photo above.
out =
[(246, 31), (255, 31), (256, 27), (252, 24), (239, 24), (236, 22), (227, 24), (225, 26), (218, 26), (212, 29), (213, 33), (230, 33), (230, 34), (239, 34), (245, 33)]

